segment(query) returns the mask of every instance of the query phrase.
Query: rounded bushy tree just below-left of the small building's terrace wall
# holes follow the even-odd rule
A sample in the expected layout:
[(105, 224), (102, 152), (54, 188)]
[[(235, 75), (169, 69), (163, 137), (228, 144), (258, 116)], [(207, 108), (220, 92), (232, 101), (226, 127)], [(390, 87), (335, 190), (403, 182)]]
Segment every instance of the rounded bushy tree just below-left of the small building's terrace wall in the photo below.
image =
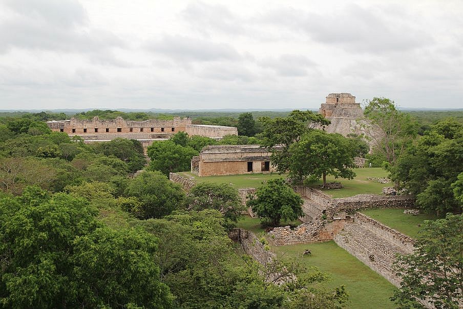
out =
[(186, 199), (182, 187), (170, 181), (161, 172), (143, 172), (133, 178), (125, 191), (135, 196), (140, 208), (132, 210), (139, 218), (161, 218), (184, 207)]

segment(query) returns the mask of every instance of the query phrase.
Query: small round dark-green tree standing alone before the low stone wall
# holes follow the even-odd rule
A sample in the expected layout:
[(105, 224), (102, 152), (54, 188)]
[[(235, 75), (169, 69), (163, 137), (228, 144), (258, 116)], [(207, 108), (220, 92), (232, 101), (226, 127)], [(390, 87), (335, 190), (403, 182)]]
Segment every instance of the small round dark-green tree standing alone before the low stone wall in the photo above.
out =
[(278, 226), (281, 219), (295, 220), (302, 216), (301, 196), (289, 187), (283, 178), (269, 179), (256, 191), (257, 198), (251, 198), (247, 206), (264, 217), (272, 226)]

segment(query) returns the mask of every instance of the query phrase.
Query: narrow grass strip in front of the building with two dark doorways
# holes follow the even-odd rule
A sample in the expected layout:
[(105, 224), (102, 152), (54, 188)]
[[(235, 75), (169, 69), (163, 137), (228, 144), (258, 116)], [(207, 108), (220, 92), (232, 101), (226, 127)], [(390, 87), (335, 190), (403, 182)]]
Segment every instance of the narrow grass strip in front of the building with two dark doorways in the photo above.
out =
[(200, 182), (216, 182), (216, 183), (229, 183), (231, 186), (241, 188), (258, 188), (262, 186), (263, 180), (286, 177), (286, 175), (278, 175), (278, 173), (271, 174), (241, 174), (241, 175), (224, 175), (224, 176), (206, 176), (198, 177), (191, 172), (177, 173), (183, 177), (193, 177), (197, 183)]

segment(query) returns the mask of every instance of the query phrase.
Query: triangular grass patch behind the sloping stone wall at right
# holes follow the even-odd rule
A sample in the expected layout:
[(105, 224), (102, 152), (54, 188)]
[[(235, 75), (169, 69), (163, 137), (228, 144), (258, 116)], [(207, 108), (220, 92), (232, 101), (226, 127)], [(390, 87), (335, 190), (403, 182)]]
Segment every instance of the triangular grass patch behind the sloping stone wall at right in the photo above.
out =
[(416, 216), (404, 214), (403, 209), (397, 208), (377, 208), (365, 209), (361, 211), (365, 215), (384, 223), (391, 229), (397, 230), (410, 237), (418, 236), (418, 231), (424, 220), (435, 220), (437, 217), (431, 214), (419, 214)]

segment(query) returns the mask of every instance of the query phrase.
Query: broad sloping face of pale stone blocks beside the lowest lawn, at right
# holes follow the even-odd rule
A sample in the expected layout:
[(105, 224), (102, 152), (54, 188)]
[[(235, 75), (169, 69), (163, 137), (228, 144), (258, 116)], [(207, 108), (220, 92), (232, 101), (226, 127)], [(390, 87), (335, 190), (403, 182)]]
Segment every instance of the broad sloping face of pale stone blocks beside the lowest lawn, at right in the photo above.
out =
[(392, 270), (396, 254), (413, 252), (413, 239), (364, 214), (334, 236), (341, 248), (399, 287), (401, 279)]

